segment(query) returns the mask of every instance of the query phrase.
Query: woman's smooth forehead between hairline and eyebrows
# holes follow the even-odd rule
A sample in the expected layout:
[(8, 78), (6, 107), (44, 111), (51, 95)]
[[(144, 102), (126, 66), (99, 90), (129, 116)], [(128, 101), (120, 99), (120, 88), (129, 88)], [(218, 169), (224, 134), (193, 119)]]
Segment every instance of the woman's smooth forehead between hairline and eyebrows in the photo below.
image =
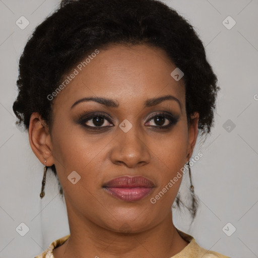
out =
[(58, 106), (71, 107), (87, 96), (116, 99), (121, 103), (119, 106), (128, 106), (166, 94), (180, 99), (184, 105), (183, 80), (171, 77), (176, 66), (162, 49), (145, 44), (113, 45), (90, 57), (87, 64), (82, 65), (86, 57), (68, 74), (77, 71), (58, 93), (55, 100)]

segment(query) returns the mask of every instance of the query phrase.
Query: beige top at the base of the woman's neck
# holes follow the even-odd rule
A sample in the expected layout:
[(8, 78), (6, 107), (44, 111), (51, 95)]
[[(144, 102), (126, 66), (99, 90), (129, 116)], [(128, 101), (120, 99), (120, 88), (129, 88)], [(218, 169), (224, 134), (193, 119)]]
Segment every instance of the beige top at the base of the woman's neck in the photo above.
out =
[[(176, 230), (178, 231), (179, 235), (188, 242), (188, 245), (186, 245), (180, 252), (170, 258), (230, 258), (229, 256), (225, 256), (221, 253), (202, 248), (198, 245), (195, 238), (177, 228)], [(53, 249), (63, 244), (69, 237), (70, 234), (56, 239), (48, 246), (45, 251), (35, 256), (34, 258), (54, 258)]]

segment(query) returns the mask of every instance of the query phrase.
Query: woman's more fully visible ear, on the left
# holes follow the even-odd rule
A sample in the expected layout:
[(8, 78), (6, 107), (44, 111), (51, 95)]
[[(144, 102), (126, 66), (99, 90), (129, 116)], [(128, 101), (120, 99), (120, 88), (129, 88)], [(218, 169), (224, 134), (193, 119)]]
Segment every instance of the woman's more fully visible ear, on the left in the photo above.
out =
[[(52, 166), (54, 160), (49, 130), (44, 120), (37, 112), (32, 113), (30, 117), (29, 141), (31, 149), (39, 161), (43, 165)], [(46, 159), (46, 163), (44, 159)]]

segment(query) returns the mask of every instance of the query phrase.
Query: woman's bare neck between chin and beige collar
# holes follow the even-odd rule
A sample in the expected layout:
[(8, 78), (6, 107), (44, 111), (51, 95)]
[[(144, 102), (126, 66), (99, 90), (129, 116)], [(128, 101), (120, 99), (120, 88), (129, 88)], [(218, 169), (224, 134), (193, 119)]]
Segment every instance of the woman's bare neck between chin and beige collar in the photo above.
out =
[[(68, 207), (70, 237), (54, 249), (55, 258), (66, 257), (171, 257), (188, 243), (176, 231), (172, 212), (158, 225), (140, 233), (120, 233), (100, 227)], [(73, 213), (73, 214), (72, 214)]]

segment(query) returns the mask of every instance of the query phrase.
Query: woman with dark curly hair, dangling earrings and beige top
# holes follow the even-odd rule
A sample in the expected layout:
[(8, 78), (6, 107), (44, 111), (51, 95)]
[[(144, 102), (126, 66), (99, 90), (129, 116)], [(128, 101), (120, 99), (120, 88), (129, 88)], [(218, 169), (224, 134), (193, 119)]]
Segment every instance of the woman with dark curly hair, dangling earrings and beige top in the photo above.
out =
[(172, 221), (219, 90), (184, 18), (154, 0), (63, 0), (28, 40), (19, 73), (13, 110), (45, 165), (40, 197), (50, 167), (70, 227), (36, 258), (227, 257)]

